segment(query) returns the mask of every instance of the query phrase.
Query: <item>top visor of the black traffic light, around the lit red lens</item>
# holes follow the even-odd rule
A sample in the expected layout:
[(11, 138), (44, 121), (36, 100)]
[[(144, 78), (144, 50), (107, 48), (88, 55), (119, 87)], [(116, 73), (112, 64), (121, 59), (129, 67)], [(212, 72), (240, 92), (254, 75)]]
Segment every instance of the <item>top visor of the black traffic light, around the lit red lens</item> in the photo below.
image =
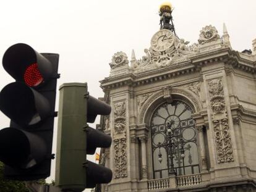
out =
[(38, 86), (53, 75), (51, 62), (27, 44), (14, 44), (6, 50), (2, 65), (16, 81)]

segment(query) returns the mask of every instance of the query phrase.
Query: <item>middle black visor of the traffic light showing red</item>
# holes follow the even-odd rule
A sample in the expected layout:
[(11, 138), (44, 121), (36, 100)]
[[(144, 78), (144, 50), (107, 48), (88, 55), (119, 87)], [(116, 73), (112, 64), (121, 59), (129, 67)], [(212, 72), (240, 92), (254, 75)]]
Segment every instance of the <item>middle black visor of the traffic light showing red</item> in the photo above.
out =
[(6, 85), (0, 92), (0, 110), (12, 121), (25, 127), (49, 115), (49, 101), (24, 83)]

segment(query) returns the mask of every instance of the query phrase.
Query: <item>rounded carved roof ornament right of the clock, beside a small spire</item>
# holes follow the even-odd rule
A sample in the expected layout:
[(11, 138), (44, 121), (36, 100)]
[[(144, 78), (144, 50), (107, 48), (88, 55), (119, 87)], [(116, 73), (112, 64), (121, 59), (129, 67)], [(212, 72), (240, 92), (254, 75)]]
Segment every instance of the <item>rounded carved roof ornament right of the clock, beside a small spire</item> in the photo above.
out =
[(210, 43), (212, 41), (220, 40), (220, 35), (218, 34), (218, 31), (215, 27), (211, 25), (207, 25), (202, 28), (200, 31), (198, 43), (199, 44), (205, 44)]

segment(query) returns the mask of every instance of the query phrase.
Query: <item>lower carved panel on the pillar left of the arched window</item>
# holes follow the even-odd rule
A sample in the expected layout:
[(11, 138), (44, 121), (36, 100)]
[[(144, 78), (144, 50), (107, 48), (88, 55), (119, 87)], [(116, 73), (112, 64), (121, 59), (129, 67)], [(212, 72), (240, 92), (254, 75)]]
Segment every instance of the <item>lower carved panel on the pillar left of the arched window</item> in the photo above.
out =
[(114, 178), (127, 177), (126, 138), (114, 140)]

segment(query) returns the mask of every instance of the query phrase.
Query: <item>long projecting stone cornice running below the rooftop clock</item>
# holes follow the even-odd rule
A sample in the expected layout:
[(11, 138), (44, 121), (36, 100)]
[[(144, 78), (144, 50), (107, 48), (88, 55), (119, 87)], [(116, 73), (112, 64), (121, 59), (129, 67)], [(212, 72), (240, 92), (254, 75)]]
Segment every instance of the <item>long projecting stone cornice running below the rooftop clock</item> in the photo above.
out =
[(179, 75), (187, 75), (190, 73), (198, 73), (202, 67), (216, 62), (223, 62), (233, 69), (243, 70), (247, 73), (256, 73), (255, 61), (241, 57), (237, 51), (230, 48), (216, 49), (211, 52), (202, 52), (200, 54), (190, 57), (189, 61), (181, 62), (179, 64), (170, 65), (156, 70), (135, 74), (129, 72), (124, 75), (117, 75), (113, 77), (106, 77), (101, 80), (101, 88), (103, 91), (108, 91), (121, 86), (140, 86), (157, 81), (163, 81)]

